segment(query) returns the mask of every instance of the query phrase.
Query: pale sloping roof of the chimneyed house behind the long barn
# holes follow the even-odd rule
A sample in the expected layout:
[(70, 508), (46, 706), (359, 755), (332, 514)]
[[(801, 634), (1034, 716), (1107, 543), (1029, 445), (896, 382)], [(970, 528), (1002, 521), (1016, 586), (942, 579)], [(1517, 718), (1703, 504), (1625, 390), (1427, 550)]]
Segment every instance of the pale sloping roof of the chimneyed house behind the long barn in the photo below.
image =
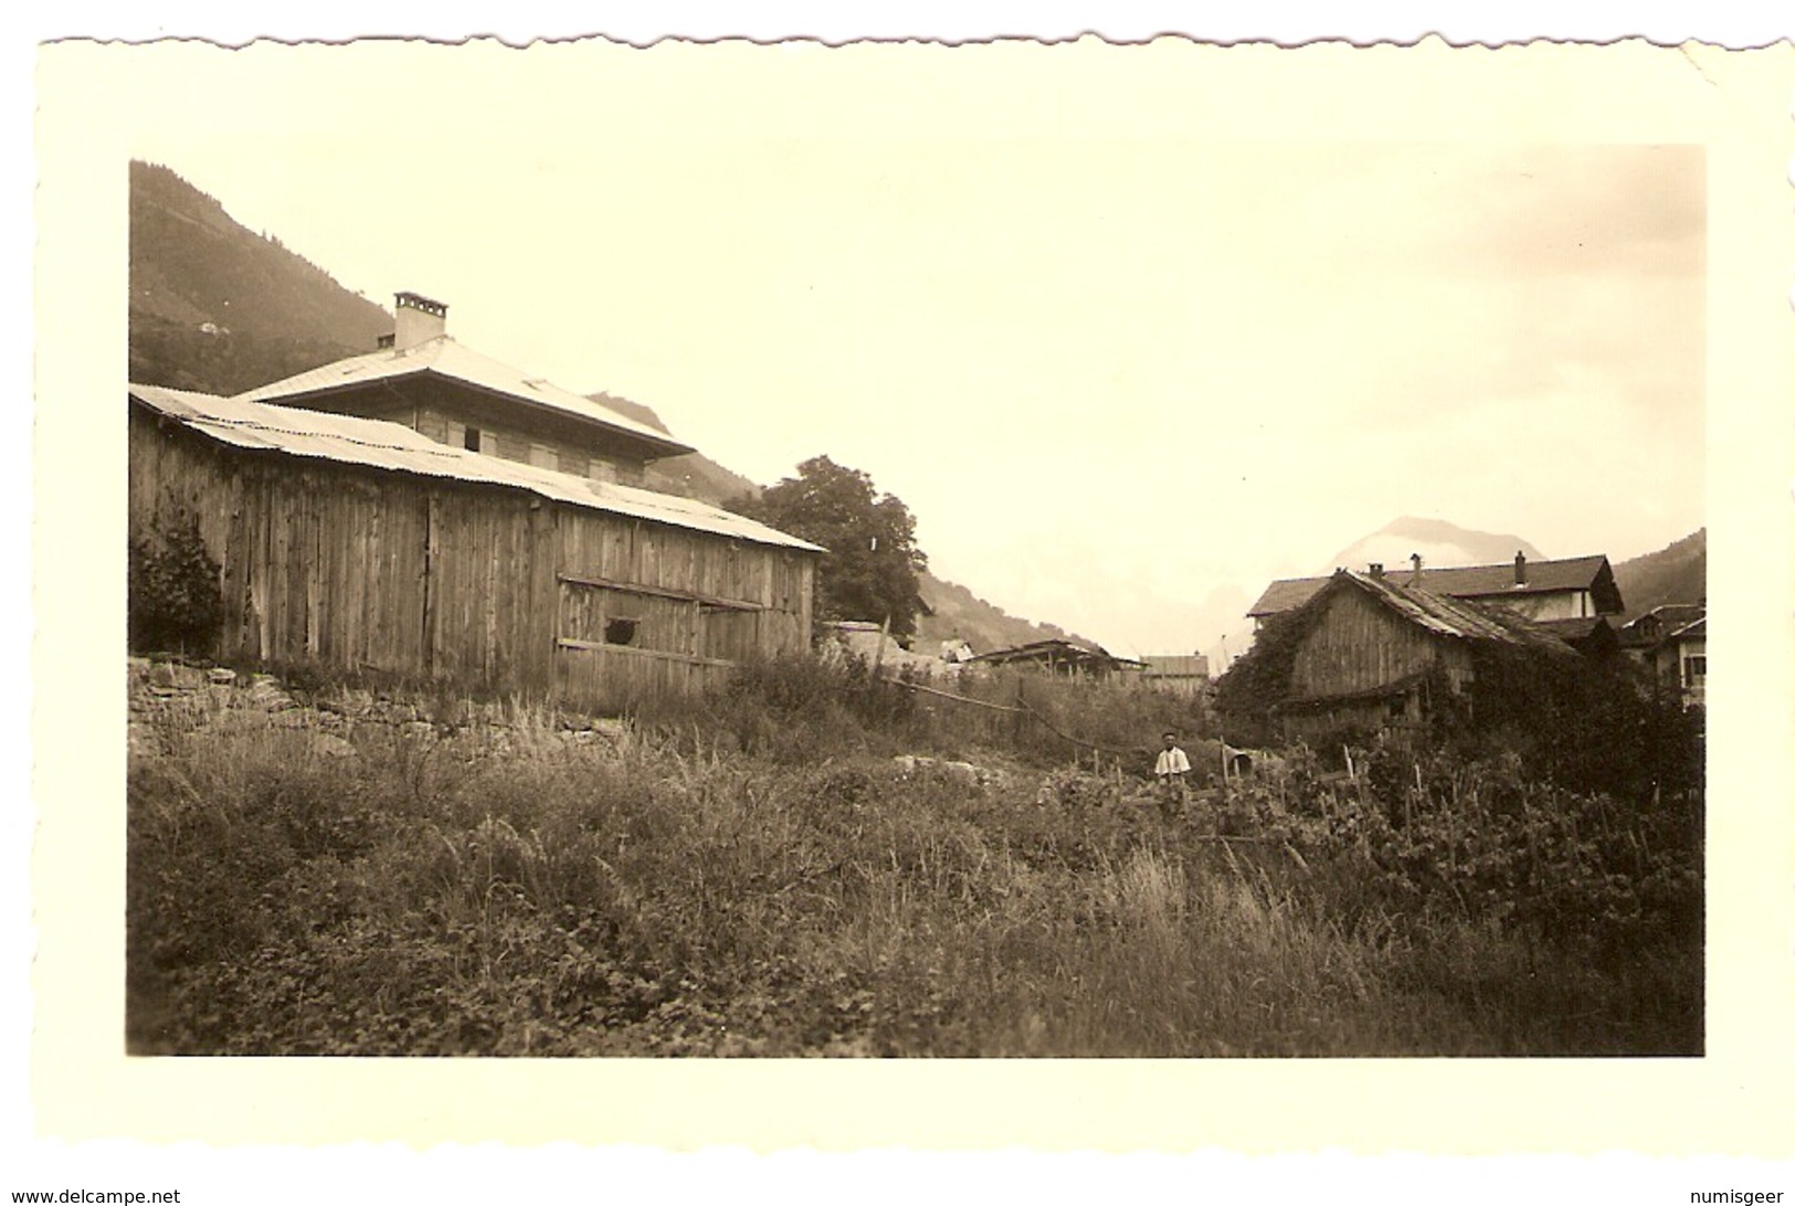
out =
[(346, 361), (334, 361), (257, 389), (246, 389), (235, 395), (235, 398), (241, 402), (294, 406), (355, 386), (420, 375), (443, 377), (538, 411), (571, 416), (628, 434), (652, 445), (655, 456), (679, 456), (680, 452), (693, 450), (691, 445), (673, 440), (664, 431), (614, 411), (603, 402), (583, 398), (542, 377), (531, 377), (519, 368), (465, 348), (451, 336), (436, 336), (411, 348), (381, 348), (364, 355), (352, 355)]

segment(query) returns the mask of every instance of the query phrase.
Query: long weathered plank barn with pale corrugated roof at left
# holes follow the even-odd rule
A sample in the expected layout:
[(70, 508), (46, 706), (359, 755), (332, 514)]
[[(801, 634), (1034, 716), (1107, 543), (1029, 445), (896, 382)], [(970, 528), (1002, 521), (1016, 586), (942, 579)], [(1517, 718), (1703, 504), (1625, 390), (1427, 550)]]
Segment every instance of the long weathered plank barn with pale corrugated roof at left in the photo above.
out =
[(129, 388), (133, 538), (197, 522), (226, 660), (625, 707), (810, 644), (813, 544), (406, 425)]

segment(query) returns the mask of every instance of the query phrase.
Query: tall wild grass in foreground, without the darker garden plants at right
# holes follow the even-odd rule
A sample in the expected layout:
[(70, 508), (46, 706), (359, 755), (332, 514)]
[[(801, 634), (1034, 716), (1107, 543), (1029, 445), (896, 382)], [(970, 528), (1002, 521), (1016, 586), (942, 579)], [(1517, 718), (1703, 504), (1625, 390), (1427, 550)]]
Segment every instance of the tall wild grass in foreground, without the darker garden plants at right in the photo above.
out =
[[(976, 750), (1000, 777), (906, 773), (889, 754), (926, 729), (896, 709), (869, 723), (876, 707), (892, 705), (738, 689), (612, 738), (531, 707), (499, 725), (330, 732), (303, 712), (163, 709), (129, 772), (131, 1046), (1353, 1055), (1689, 1041), (1689, 994), (1664, 989), (1687, 969), (1669, 955), (1592, 971), (1488, 919), (1341, 908), (1330, 863), (1165, 824), (1113, 770), (1041, 773)], [(1260, 804), (1242, 815), (1269, 824)]]

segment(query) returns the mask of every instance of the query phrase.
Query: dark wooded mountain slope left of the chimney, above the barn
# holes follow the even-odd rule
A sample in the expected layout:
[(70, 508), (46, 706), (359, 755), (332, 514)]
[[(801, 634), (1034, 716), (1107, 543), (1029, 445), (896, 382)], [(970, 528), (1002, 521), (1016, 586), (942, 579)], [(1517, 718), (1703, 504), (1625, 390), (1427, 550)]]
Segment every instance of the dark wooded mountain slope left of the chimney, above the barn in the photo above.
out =
[(275, 239), (158, 163), (131, 163), (131, 380), (237, 393), (345, 355), (393, 328)]

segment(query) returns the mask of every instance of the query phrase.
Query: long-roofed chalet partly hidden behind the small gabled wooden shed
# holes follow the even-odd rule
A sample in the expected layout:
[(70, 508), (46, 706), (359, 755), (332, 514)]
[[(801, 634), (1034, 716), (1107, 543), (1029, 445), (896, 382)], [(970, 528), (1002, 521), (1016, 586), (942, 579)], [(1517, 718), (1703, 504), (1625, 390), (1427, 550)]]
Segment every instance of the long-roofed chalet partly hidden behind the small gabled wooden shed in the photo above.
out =
[[(1423, 569), (1418, 556), (1411, 562), (1413, 565), (1405, 571), (1384, 574), (1382, 565), (1373, 565), (1371, 572), (1384, 574), (1398, 587), (1414, 587), (1452, 599), (1495, 603), (1528, 619), (1590, 619), (1626, 610), (1607, 556), (1529, 562), (1526, 555), (1515, 553), (1513, 565), (1454, 569)], [(1273, 616), (1296, 610), (1328, 581), (1328, 578), (1283, 578), (1271, 583), (1248, 612), (1253, 619), (1253, 630), (1258, 632)]]

